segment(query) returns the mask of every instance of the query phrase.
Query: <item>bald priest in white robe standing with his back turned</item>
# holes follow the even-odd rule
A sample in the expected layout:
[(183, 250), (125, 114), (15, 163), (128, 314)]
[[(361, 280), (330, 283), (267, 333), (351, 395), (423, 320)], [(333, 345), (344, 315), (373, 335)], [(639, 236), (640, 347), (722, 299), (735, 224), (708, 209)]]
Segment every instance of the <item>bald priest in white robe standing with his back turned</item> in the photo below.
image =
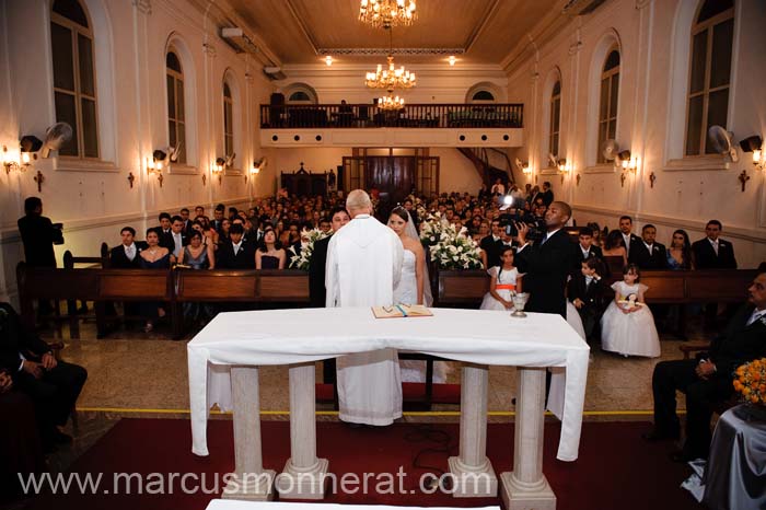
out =
[[(363, 190), (349, 193), (346, 208), (351, 221), (333, 235), (327, 247), (326, 304), (391, 305), (402, 276), (402, 241), (372, 216), (372, 201)], [(337, 373), (343, 421), (386, 426), (402, 417), (402, 378), (395, 349), (338, 358)]]

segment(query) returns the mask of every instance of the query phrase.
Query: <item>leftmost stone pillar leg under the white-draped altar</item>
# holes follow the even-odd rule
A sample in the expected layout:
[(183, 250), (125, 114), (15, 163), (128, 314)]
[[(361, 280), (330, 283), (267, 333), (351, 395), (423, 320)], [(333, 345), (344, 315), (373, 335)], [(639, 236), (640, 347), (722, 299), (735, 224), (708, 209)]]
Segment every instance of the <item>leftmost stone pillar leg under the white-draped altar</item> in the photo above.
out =
[(272, 470), (264, 470), (260, 449), (260, 402), (257, 367), (232, 367), (234, 404), (234, 477), (223, 489), (224, 499), (274, 499)]

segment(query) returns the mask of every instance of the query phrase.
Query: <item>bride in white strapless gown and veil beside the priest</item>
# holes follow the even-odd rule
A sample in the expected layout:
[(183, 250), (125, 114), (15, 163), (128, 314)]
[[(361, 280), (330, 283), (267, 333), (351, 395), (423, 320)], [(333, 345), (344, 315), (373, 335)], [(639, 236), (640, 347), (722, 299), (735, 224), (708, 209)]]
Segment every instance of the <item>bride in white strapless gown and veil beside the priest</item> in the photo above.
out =
[[(431, 283), (426, 266), (426, 251), (420, 244), (417, 230), (407, 209), (396, 207), (388, 217), (388, 227), (402, 240), (404, 258), (402, 260), (402, 278), (394, 289), (394, 302), (404, 304), (433, 304)], [(416, 318), (417, 321), (417, 318)], [(399, 361), (403, 382), (425, 382), (426, 363), (417, 360)], [(443, 361), (433, 363), (433, 382), (446, 381), (448, 366)]]

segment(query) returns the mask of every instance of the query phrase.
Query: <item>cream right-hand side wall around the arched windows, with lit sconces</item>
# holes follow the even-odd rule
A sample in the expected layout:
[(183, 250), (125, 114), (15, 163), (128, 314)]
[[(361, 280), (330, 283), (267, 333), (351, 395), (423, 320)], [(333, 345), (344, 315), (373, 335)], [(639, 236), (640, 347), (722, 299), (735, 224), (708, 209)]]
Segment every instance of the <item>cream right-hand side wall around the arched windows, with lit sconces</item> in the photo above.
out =
[[(751, 135), (766, 138), (766, 3), (738, 0), (735, 5), (728, 129), (735, 141)], [(700, 239), (707, 220), (716, 218), (734, 242), (740, 266), (754, 267), (766, 260), (766, 186), (764, 173), (751, 164), (752, 154), (730, 164), (720, 157), (682, 157), (688, 24), (696, 7), (693, 0), (613, 0), (570, 22), (553, 39), (535, 42), (509, 71), (509, 101), (524, 103), (526, 140), (518, 153), (536, 171), (531, 179), (550, 181), (556, 197), (573, 205), (578, 223), (599, 221), (613, 228), (628, 213), (636, 217), (637, 230), (654, 223), (658, 240), (668, 243), (676, 228)], [(603, 66), (611, 37), (622, 50), (616, 139), (640, 158), (636, 175), (624, 187), (618, 172), (595, 165), (599, 82), (593, 74)], [(555, 172), (541, 171), (546, 166), (547, 102), (556, 69), (562, 85), (559, 155), (574, 164), (565, 184)], [(738, 181), (743, 170), (751, 176), (744, 193)], [(651, 173), (657, 177), (653, 188)]]

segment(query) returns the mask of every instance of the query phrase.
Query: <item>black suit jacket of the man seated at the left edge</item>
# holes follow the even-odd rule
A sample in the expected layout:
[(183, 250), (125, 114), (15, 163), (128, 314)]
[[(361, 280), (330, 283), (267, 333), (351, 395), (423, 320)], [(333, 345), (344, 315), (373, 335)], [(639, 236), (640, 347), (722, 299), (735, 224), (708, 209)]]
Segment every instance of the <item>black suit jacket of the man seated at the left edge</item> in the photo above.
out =
[(43, 341), (34, 332), (27, 331), (21, 323), (21, 317), (9, 303), (0, 303), (0, 369), (10, 374), (19, 372), (23, 353), (26, 359), (38, 360), (50, 351), (50, 346)]

